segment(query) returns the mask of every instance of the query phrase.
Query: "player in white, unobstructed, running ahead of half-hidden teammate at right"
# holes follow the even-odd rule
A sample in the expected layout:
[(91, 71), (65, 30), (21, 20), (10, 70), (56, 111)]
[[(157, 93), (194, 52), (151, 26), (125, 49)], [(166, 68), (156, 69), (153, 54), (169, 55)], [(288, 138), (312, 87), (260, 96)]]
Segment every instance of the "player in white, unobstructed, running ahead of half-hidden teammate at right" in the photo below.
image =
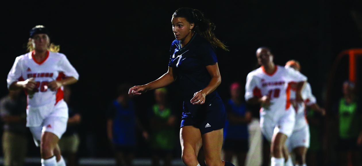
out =
[(285, 141), (293, 131), (295, 111), (290, 104), (290, 84), (298, 82), (296, 100), (303, 101), (300, 90), (307, 78), (291, 69), (275, 65), (268, 48), (258, 48), (260, 68), (250, 72), (245, 86), (245, 100), (261, 104), (260, 127), (271, 142), (271, 166), (282, 166), (288, 160)]

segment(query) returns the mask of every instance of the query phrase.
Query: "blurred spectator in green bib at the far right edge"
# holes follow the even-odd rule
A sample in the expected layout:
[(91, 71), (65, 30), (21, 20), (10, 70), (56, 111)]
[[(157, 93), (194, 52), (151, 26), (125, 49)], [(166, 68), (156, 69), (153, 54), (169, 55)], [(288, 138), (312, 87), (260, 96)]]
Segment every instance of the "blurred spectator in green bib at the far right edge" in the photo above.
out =
[[(340, 153), (340, 165), (359, 166), (361, 160), (360, 146), (362, 143), (361, 131), (361, 107), (355, 96), (353, 82), (345, 81), (342, 86), (344, 97), (341, 98), (333, 111), (339, 125), (338, 150)], [(350, 156), (350, 157), (349, 157)], [(352, 158), (352, 160), (350, 160)]]

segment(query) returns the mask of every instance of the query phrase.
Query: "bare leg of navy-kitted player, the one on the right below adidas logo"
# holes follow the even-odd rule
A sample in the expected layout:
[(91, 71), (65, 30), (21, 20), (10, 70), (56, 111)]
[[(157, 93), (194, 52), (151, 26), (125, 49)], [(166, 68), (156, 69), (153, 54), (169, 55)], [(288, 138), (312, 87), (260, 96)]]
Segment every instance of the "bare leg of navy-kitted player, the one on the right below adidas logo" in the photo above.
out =
[(223, 131), (223, 129), (219, 129), (202, 135), (202, 147), (205, 151), (205, 162), (207, 166), (225, 165), (225, 161), (221, 160)]

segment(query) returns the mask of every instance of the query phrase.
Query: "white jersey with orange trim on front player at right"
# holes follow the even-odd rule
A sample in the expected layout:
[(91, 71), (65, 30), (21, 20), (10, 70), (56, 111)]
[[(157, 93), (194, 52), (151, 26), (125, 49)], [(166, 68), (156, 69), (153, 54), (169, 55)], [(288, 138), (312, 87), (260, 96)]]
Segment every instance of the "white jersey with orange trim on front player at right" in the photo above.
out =
[(248, 74), (245, 86), (245, 100), (249, 100), (254, 96), (268, 95), (271, 104), (269, 108), (261, 108), (260, 111), (261, 114), (268, 113), (272, 116), (276, 111), (290, 108), (291, 83), (306, 80), (307, 77), (295, 70), (275, 65), (274, 73), (268, 74), (262, 66)]

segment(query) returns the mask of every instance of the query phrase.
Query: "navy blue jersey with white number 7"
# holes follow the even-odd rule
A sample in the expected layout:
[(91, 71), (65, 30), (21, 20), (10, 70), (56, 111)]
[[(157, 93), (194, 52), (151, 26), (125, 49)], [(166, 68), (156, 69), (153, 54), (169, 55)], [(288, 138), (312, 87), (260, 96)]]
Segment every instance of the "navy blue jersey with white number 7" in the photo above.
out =
[[(170, 49), (170, 61), (168, 66), (172, 67), (177, 81), (182, 89), (184, 100), (184, 114), (193, 117), (198, 112), (200, 105), (193, 105), (190, 100), (194, 93), (204, 89), (211, 80), (206, 66), (212, 65), (218, 60), (212, 45), (202, 36), (195, 33), (188, 44), (181, 48), (181, 41), (174, 40)], [(223, 103), (216, 91), (206, 96), (207, 106)]]

